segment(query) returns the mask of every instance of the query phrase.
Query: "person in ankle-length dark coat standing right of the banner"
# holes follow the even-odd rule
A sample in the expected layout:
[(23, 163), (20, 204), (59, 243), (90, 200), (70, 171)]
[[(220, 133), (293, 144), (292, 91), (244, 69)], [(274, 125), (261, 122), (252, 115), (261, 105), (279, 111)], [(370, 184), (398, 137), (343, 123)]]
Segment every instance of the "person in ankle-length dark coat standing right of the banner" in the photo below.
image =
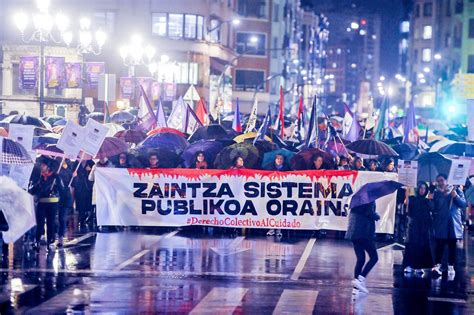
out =
[(428, 185), (421, 182), (416, 195), (408, 199), (408, 235), (403, 256), (406, 274), (413, 271), (420, 274), (433, 266), (430, 248), (433, 203), (427, 195)]

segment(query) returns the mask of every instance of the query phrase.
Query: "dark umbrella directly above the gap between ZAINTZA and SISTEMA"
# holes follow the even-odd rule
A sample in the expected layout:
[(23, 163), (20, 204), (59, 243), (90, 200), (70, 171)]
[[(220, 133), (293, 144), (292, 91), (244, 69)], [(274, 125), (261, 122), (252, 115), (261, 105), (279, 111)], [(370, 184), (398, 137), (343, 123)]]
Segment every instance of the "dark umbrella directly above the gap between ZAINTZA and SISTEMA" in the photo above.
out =
[(215, 166), (220, 169), (229, 169), (233, 166), (234, 159), (241, 156), (244, 159), (244, 166), (246, 168), (259, 167), (260, 156), (258, 149), (251, 143), (235, 143), (222, 149), (217, 155)]

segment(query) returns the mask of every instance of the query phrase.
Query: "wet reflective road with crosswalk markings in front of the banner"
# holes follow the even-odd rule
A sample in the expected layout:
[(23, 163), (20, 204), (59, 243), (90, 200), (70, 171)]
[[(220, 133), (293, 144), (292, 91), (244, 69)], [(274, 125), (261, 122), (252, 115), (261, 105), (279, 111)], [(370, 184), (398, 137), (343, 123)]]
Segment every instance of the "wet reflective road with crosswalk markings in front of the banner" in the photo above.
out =
[(379, 246), (368, 296), (352, 298), (354, 254), (343, 240), (281, 240), (194, 230), (82, 232), (3, 261), (2, 314), (473, 314), (474, 236), (454, 281), (404, 278), (402, 251)]

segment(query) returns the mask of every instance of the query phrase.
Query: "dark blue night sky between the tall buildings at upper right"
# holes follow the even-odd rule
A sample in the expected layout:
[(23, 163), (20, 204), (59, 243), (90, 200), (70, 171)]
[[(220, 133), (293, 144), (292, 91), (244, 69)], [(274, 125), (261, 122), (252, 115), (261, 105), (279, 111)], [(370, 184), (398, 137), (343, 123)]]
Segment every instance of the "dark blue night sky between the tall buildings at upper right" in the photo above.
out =
[[(342, 11), (355, 4), (360, 12), (369, 11), (381, 15), (381, 74), (395, 75), (398, 72), (399, 24), (403, 15), (403, 1), (406, 0), (302, 0), (303, 5), (313, 6), (317, 13), (324, 13), (324, 7)], [(329, 23), (331, 21), (329, 20)], [(335, 27), (334, 25), (330, 25)]]

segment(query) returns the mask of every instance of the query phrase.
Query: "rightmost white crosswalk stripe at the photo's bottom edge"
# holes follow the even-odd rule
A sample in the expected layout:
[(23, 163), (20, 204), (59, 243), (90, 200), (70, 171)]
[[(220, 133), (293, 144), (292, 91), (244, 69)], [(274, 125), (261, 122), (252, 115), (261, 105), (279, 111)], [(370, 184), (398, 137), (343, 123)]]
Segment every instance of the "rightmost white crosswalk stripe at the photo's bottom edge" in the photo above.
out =
[(318, 291), (314, 290), (283, 290), (273, 314), (313, 314)]

